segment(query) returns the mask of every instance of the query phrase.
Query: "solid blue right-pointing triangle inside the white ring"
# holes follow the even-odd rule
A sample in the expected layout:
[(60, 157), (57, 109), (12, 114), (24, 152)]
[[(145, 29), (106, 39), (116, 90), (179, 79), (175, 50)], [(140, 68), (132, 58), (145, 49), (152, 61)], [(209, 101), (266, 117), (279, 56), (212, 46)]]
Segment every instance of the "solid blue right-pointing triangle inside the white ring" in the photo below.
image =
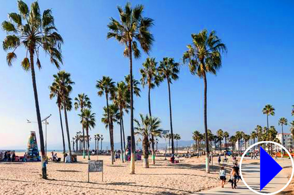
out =
[(260, 191), (283, 168), (260, 146)]

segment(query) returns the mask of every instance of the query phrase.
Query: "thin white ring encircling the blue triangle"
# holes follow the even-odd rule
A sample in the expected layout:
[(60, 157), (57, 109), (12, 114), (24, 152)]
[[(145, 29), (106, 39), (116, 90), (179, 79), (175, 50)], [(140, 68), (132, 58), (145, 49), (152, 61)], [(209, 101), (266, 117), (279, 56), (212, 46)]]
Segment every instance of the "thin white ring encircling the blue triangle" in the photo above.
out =
[[(275, 192), (272, 192), (272, 193), (261, 193), (261, 192), (257, 192), (257, 191), (255, 191), (254, 189), (250, 188), (250, 186), (245, 182), (245, 180), (244, 180), (244, 178), (243, 178), (243, 176), (242, 176), (242, 171), (241, 171), (242, 160), (243, 160), (245, 154), (246, 154), (246, 153), (249, 151), (249, 149), (252, 148), (253, 146), (258, 145), (258, 144), (263, 144), (263, 143), (276, 144), (276, 145), (282, 147), (282, 148), (288, 153), (288, 155), (290, 156), (290, 159), (291, 159), (291, 161), (292, 161), (292, 174), (291, 174), (291, 177), (290, 177), (288, 183), (287, 183), (282, 189), (280, 189), (280, 190), (278, 190), (278, 191), (275, 191)], [(260, 157), (259, 157), (259, 158), (260, 158)], [(294, 161), (293, 161), (293, 158), (292, 158), (290, 152), (289, 152), (284, 146), (282, 146), (281, 144), (279, 144), (279, 143), (277, 143), (277, 142), (274, 142), (274, 141), (260, 141), (260, 142), (257, 142), (257, 143), (255, 143), (255, 144), (252, 144), (249, 148), (247, 148), (247, 150), (243, 153), (243, 155), (242, 155), (242, 157), (241, 157), (241, 159), (240, 159), (240, 176), (241, 176), (241, 179), (242, 179), (243, 183), (246, 185), (247, 188), (249, 188), (252, 192), (257, 193), (257, 194), (261, 194), (261, 195), (274, 195), (274, 194), (276, 194), (276, 193), (281, 192), (282, 190), (284, 190), (285, 188), (287, 188), (287, 186), (290, 184), (293, 175), (294, 175)]]

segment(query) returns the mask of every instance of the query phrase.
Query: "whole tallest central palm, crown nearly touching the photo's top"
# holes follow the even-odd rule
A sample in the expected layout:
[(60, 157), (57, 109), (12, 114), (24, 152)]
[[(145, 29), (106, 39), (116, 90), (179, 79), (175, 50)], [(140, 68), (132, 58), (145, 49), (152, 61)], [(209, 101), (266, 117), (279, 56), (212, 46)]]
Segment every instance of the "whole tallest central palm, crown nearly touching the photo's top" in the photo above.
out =
[(143, 6), (137, 5), (133, 9), (130, 3), (127, 3), (125, 9), (118, 6), (120, 22), (114, 18), (110, 18), (108, 24), (109, 32), (107, 39), (115, 38), (119, 43), (125, 44), (124, 56), (130, 59), (130, 100), (131, 100), (131, 174), (135, 174), (135, 137), (133, 128), (133, 73), (132, 73), (132, 55), (135, 58), (140, 58), (140, 50), (137, 47), (137, 42), (145, 53), (149, 53), (154, 41), (153, 35), (149, 32), (153, 26), (151, 18), (143, 17)]

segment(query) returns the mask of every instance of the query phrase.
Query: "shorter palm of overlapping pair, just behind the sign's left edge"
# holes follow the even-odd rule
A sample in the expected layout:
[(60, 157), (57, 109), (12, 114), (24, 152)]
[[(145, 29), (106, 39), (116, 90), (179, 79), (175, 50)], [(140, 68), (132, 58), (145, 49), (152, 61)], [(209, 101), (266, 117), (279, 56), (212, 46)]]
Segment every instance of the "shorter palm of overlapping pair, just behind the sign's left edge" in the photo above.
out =
[[(95, 113), (91, 113), (91, 110), (88, 108), (84, 108), (83, 112), (79, 114), (83, 128), (86, 129), (87, 134), (87, 148), (88, 148), (88, 160), (90, 160), (90, 144), (89, 144), (89, 130), (95, 127)], [(96, 142), (95, 142), (96, 143)], [(96, 149), (96, 148), (95, 148)]]

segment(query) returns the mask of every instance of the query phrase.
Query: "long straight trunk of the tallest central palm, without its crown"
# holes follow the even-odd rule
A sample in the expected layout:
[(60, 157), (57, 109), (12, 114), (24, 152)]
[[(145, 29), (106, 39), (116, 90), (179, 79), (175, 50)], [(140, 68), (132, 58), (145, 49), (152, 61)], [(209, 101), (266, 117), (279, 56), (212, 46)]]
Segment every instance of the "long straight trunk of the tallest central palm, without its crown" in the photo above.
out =
[(135, 135), (134, 135), (134, 113), (133, 113), (133, 64), (132, 64), (132, 40), (129, 40), (130, 57), (130, 95), (131, 95), (131, 174), (135, 174)]

